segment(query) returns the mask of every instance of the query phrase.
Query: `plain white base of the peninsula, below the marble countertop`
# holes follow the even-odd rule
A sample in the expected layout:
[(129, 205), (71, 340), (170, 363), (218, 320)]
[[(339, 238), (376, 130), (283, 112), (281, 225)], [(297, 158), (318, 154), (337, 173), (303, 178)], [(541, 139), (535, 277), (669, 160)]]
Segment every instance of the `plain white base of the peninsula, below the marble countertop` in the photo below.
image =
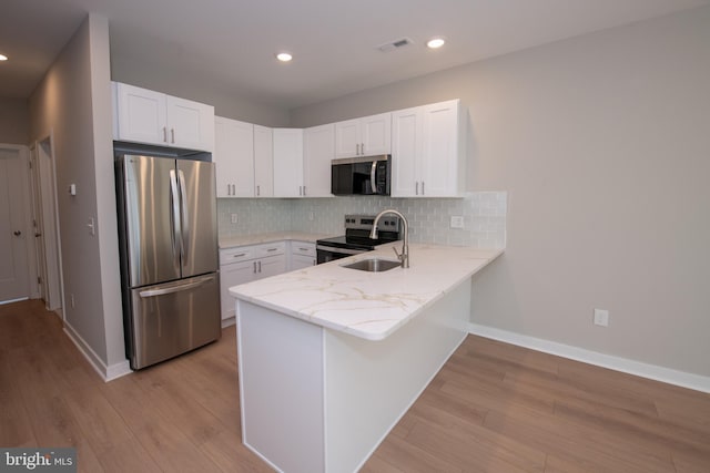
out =
[(357, 471), (466, 337), (470, 285), (378, 341), (237, 297), (244, 444), (278, 471)]

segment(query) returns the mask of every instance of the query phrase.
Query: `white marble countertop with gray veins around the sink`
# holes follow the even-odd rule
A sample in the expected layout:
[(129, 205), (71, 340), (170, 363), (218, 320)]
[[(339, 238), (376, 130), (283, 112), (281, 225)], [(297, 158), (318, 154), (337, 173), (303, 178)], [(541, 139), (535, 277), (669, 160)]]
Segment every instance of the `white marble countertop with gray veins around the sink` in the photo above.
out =
[(382, 340), (470, 278), (503, 249), (410, 244), (408, 269), (366, 273), (341, 265), (396, 259), (393, 246), (230, 288), (237, 299), (308, 322)]

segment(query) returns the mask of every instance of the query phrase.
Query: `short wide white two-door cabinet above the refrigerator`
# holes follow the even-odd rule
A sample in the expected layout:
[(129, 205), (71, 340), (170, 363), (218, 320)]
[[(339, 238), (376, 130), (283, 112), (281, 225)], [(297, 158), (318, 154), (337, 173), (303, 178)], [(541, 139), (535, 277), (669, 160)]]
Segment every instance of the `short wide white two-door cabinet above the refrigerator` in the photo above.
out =
[(213, 106), (120, 82), (112, 85), (114, 140), (213, 151)]

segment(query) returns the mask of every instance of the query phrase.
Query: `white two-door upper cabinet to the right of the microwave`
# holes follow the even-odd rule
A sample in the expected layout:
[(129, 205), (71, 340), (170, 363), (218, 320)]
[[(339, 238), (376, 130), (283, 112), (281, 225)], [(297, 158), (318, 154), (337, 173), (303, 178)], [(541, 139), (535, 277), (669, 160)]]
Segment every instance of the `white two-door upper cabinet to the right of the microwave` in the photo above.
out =
[(392, 196), (460, 196), (466, 169), (459, 101), (393, 112), (392, 121)]

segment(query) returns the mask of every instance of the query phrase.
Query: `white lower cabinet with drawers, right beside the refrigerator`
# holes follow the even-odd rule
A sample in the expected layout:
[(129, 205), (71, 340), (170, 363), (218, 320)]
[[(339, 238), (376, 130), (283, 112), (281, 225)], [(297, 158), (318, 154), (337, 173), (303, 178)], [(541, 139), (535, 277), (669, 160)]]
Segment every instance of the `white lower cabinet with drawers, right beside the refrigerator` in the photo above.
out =
[(240, 246), (220, 250), (220, 302), (222, 325), (234, 321), (230, 288), (286, 271), (286, 243)]

